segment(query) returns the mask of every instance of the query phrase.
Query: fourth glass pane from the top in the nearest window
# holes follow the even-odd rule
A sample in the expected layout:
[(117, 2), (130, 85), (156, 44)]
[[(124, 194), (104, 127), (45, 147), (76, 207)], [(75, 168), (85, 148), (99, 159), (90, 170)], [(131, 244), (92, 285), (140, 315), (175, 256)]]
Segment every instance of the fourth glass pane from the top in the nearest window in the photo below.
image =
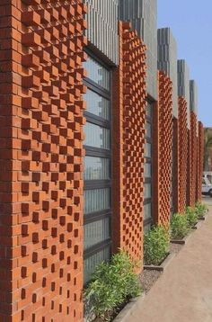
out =
[(109, 180), (110, 159), (105, 157), (84, 157), (84, 180)]

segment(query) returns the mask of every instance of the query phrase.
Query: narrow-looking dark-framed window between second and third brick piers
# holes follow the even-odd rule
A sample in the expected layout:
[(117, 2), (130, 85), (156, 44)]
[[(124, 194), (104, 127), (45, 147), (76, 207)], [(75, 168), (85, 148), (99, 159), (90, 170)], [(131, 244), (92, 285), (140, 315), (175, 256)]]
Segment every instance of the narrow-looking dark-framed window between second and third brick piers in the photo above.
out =
[(145, 231), (151, 228), (152, 219), (152, 150), (153, 150), (153, 103), (146, 105), (146, 146), (145, 146)]

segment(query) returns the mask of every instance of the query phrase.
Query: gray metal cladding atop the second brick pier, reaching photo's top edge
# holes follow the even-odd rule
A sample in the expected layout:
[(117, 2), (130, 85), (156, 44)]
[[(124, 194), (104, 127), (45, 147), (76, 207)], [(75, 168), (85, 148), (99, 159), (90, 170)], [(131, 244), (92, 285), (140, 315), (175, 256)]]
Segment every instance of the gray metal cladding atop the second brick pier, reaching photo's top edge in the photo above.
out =
[(119, 0), (119, 19), (131, 22), (147, 46), (147, 93), (157, 100), (157, 0)]

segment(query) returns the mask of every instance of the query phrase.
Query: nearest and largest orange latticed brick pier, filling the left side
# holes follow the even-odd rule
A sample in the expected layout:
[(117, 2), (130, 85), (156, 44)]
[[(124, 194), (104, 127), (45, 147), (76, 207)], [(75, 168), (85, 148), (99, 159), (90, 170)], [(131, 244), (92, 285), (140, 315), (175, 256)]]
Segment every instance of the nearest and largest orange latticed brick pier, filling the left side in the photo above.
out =
[(0, 320), (82, 321), (84, 4), (0, 4)]

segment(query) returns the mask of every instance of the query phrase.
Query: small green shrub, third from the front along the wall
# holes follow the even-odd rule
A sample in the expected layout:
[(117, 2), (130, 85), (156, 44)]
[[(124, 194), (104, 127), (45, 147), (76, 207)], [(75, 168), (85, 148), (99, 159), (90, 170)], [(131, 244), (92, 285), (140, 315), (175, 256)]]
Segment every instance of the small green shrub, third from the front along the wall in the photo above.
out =
[(172, 239), (182, 239), (189, 232), (187, 216), (181, 213), (175, 213), (171, 221), (171, 237)]

